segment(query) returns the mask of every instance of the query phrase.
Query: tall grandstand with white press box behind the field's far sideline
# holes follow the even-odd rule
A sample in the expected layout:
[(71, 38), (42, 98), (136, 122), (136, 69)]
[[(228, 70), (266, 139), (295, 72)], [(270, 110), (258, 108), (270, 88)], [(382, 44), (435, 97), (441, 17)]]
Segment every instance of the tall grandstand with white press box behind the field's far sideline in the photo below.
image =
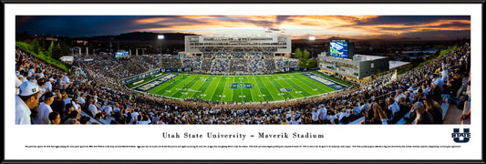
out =
[(185, 36), (183, 67), (211, 74), (270, 74), (296, 67), (290, 36)]

